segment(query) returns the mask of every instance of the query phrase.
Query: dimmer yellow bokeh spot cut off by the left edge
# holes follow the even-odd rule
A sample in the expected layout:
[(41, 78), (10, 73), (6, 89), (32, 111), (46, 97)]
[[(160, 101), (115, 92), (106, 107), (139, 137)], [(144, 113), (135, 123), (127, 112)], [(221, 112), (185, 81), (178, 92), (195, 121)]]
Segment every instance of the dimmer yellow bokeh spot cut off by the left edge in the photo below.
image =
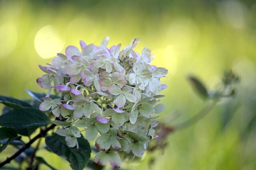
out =
[(8, 56), (16, 47), (17, 29), (13, 24), (0, 25), (0, 59)]

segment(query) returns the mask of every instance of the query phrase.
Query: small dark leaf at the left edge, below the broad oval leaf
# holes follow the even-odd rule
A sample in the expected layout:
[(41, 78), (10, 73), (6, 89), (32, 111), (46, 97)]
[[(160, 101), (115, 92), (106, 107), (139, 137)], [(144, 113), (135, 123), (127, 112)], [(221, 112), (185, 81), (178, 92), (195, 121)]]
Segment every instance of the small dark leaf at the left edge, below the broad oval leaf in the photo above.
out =
[(19, 138), (20, 136), (18, 136), (12, 128), (0, 128), (0, 152), (2, 152), (13, 140)]

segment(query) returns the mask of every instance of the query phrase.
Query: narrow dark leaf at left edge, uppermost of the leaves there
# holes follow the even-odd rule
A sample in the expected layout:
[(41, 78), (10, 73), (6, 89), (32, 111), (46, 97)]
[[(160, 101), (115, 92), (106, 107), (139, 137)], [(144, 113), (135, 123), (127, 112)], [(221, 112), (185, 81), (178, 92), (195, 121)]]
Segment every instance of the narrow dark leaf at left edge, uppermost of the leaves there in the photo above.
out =
[(2, 95), (0, 95), (0, 103), (3, 103), (4, 105), (15, 108), (15, 109), (23, 108), (23, 107), (31, 107), (28, 103), (24, 101), (20, 101), (12, 97), (2, 96)]

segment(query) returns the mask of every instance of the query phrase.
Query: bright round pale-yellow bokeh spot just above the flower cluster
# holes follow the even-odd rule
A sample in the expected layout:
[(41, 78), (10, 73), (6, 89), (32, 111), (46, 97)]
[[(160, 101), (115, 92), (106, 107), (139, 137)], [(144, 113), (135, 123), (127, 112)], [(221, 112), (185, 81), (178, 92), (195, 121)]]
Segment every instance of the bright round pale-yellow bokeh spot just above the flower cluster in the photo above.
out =
[(54, 26), (41, 28), (35, 37), (36, 52), (42, 58), (54, 57), (64, 47), (64, 40)]

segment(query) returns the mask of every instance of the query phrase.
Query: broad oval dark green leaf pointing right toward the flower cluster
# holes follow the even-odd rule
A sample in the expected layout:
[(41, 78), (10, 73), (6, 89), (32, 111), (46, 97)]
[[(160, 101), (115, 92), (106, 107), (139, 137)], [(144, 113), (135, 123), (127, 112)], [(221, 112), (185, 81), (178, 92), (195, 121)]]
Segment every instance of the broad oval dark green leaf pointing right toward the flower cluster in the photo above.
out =
[(0, 125), (10, 128), (40, 127), (50, 123), (44, 112), (33, 109), (15, 109), (0, 116)]

